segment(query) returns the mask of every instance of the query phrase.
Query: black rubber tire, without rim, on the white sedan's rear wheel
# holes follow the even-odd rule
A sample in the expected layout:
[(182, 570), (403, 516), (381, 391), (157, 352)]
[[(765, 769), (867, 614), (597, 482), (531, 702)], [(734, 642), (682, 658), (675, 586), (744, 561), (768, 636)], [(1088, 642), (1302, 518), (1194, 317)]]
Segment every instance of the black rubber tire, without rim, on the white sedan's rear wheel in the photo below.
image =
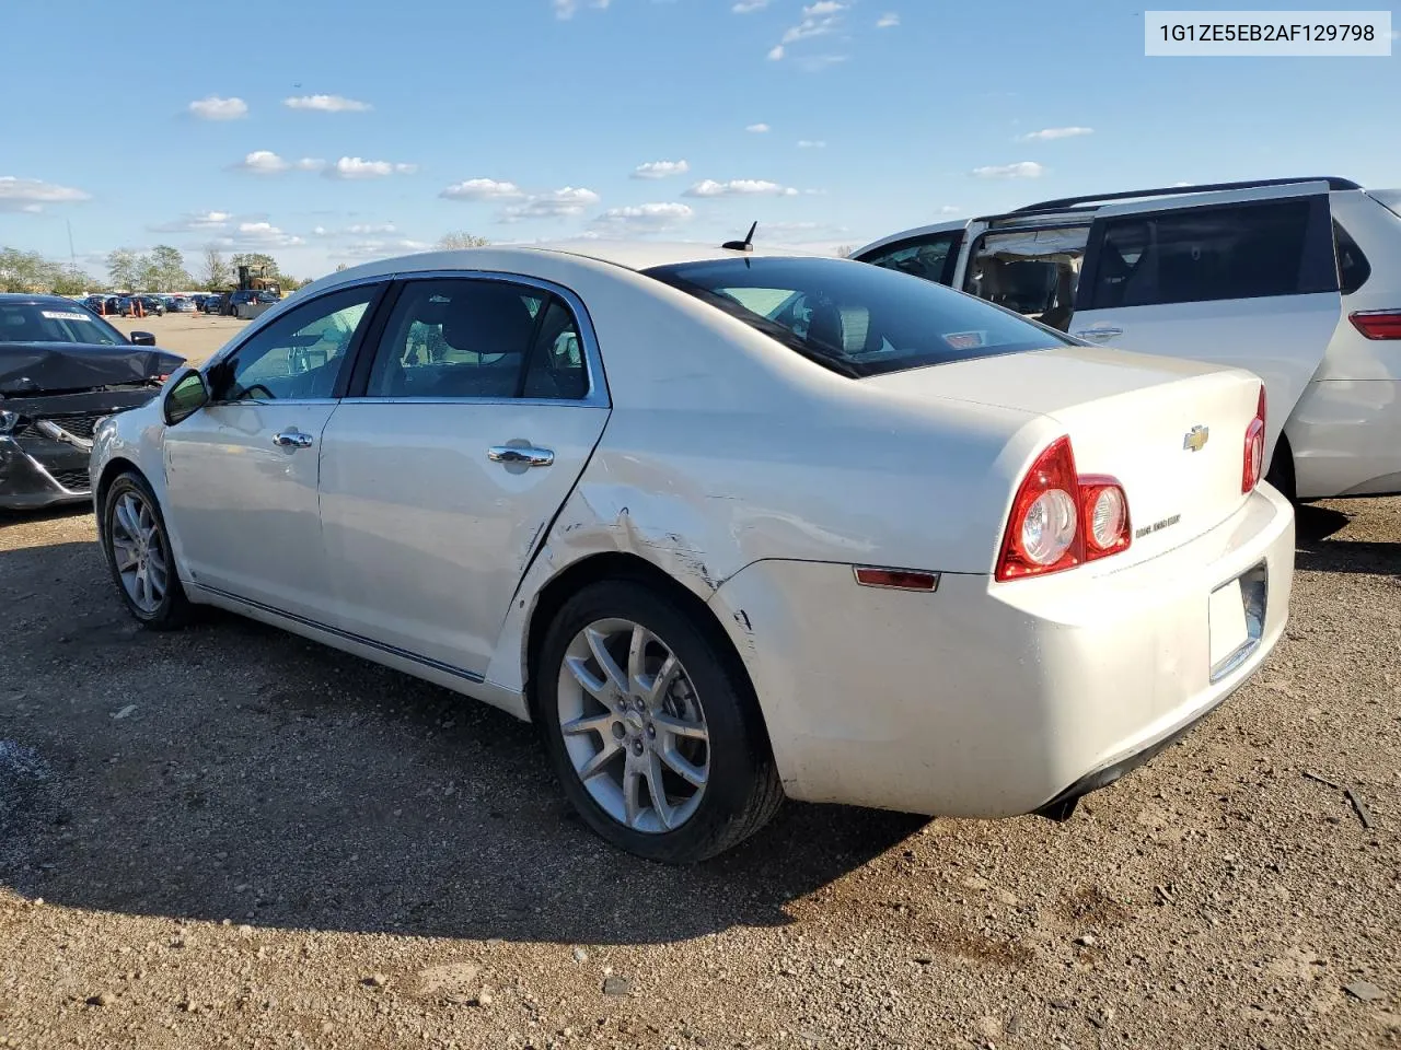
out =
[[(663, 640), (685, 668), (703, 707), (709, 734), (709, 778), (691, 818), (670, 832), (628, 827), (590, 794), (566, 750), (559, 717), (559, 680), (566, 651), (588, 624), (625, 619)], [(758, 701), (719, 627), (703, 624), (653, 588), (632, 580), (590, 584), (565, 602), (551, 623), (534, 668), (534, 718), (565, 795), (600, 837), (663, 864), (695, 864), (740, 844), (766, 825), (783, 802), (783, 785)]]

